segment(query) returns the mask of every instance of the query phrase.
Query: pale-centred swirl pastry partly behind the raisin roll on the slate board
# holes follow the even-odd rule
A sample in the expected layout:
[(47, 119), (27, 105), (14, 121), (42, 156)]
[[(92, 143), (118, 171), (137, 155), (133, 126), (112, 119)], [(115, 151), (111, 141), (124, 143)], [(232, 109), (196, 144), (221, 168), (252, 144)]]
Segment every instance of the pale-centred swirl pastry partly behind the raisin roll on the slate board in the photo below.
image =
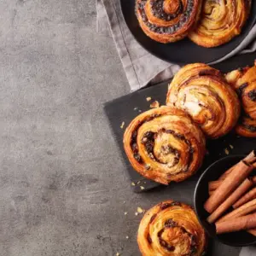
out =
[(240, 115), (236, 91), (217, 69), (201, 63), (179, 70), (169, 86), (166, 104), (189, 113), (210, 138), (227, 134)]

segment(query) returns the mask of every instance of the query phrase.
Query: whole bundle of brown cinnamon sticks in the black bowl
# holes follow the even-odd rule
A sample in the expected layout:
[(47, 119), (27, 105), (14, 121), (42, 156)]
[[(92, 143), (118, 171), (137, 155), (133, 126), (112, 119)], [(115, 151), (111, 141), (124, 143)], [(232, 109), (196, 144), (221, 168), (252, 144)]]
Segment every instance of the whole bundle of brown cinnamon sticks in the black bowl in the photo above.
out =
[(256, 236), (256, 176), (250, 176), (254, 168), (256, 150), (208, 184), (210, 197), (204, 207), (217, 234), (247, 230)]

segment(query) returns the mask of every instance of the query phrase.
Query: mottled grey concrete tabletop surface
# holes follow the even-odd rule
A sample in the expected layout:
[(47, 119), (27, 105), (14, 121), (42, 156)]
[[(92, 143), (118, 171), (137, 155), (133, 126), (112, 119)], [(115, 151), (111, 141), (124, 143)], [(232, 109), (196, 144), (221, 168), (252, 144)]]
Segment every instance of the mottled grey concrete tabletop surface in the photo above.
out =
[(102, 103), (129, 86), (95, 1), (0, 12), (0, 255), (139, 255), (137, 207), (171, 195), (136, 195), (123, 172)]

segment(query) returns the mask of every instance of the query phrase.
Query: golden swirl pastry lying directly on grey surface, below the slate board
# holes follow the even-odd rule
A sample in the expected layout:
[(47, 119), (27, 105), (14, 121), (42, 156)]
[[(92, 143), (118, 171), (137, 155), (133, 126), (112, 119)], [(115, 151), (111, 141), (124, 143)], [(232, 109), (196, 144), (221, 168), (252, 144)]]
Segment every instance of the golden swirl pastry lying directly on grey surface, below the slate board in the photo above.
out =
[(191, 207), (164, 201), (145, 213), (137, 242), (143, 256), (200, 256), (207, 236)]

